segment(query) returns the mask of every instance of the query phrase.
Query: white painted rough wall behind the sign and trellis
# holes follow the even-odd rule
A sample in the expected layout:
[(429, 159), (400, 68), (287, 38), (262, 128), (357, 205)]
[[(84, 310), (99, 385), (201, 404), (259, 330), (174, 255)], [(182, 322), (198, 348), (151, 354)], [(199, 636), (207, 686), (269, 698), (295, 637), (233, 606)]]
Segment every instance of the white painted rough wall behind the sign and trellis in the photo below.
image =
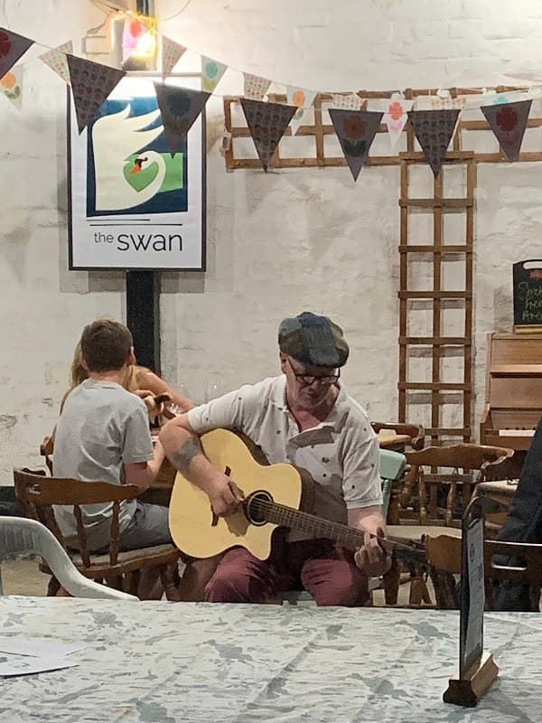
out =
[[(161, 0), (159, 12), (169, 18), (180, 5)], [(83, 0), (37, 9), (35, 0), (0, 0), (0, 25), (49, 46), (72, 38), (80, 52), (102, 18)], [(520, 71), (542, 77), (535, 0), (192, 0), (163, 30), (233, 67), (313, 89), (489, 86)], [(179, 68), (196, 66), (187, 54)], [(220, 92), (240, 89), (240, 75), (229, 71)], [(31, 62), (23, 112), (0, 102), (0, 484), (12, 484), (12, 465), (40, 464), (37, 448), (54, 423), (81, 327), (126, 310), (122, 273), (67, 269), (61, 80)], [(227, 174), (220, 99), (210, 101), (208, 118), (208, 272), (163, 275), (164, 376), (203, 399), (211, 385), (227, 390), (273, 374), (276, 324), (312, 309), (344, 326), (350, 392), (371, 418), (397, 418), (397, 168), (366, 169), (357, 184), (345, 168)], [(528, 144), (542, 147), (539, 131), (529, 131)], [(495, 147), (491, 137), (486, 146)], [(449, 183), (461, 193), (459, 177)], [(511, 328), (511, 263), (540, 250), (541, 185), (542, 164), (478, 169), (476, 424), (485, 333)], [(447, 273), (453, 281), (460, 272)]]

